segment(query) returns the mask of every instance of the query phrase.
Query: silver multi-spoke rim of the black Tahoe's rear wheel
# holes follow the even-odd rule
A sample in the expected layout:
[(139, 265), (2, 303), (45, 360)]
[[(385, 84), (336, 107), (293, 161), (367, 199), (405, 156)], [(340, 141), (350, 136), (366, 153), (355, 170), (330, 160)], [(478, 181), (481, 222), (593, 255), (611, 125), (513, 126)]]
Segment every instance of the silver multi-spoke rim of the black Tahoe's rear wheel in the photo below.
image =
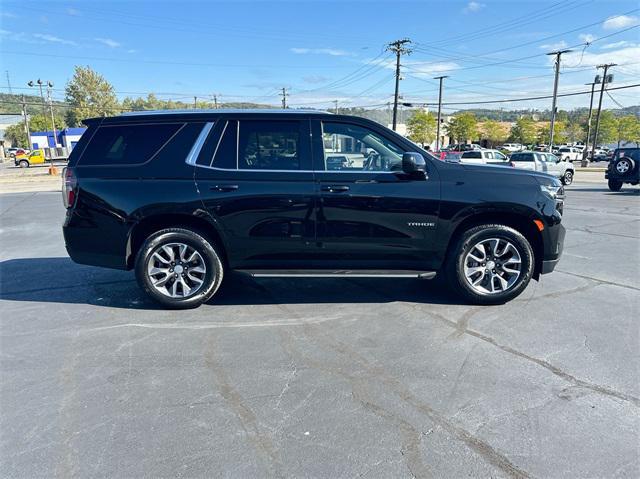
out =
[(207, 274), (202, 255), (185, 243), (158, 246), (149, 256), (147, 277), (159, 293), (170, 298), (188, 298), (204, 285)]

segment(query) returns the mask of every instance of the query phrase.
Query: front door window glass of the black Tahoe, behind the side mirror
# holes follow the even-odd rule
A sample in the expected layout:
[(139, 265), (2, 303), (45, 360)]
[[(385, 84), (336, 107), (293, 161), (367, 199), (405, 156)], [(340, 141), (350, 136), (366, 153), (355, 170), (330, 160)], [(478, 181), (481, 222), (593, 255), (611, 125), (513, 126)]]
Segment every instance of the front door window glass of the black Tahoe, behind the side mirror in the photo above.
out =
[(404, 150), (368, 128), (349, 123), (322, 123), (324, 168), (327, 171), (391, 171), (402, 169)]

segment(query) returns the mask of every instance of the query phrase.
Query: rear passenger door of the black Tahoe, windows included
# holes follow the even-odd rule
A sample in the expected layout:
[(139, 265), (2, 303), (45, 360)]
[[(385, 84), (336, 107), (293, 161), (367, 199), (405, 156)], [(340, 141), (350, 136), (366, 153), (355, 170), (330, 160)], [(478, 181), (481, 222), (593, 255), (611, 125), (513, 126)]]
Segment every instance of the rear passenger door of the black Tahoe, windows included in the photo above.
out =
[(195, 179), (231, 267), (296, 267), (316, 247), (309, 137), (308, 120), (216, 122)]

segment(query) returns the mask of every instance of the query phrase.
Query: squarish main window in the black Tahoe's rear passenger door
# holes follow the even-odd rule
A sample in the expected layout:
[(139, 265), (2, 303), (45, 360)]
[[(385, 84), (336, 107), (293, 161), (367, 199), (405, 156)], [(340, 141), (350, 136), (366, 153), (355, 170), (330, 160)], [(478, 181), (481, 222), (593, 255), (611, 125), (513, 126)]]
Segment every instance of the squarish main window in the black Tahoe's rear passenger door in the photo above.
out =
[(239, 140), (240, 169), (300, 169), (298, 121), (242, 121)]

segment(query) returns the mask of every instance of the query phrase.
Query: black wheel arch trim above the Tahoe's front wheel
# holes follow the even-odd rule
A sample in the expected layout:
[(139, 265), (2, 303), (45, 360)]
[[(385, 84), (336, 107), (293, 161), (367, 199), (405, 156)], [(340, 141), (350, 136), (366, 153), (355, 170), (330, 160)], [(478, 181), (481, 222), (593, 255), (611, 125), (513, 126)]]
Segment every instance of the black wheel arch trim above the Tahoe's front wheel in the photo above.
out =
[(544, 239), (541, 231), (537, 228), (533, 222), (534, 219), (531, 215), (507, 210), (491, 210), (491, 211), (476, 211), (467, 215), (462, 219), (453, 230), (449, 237), (447, 244), (447, 256), (452, 254), (452, 247), (456, 241), (462, 236), (465, 231), (469, 229), (486, 224), (498, 224), (508, 226), (520, 232), (531, 244), (534, 257), (534, 270), (533, 278), (538, 279), (542, 274), (542, 261), (544, 257)]

